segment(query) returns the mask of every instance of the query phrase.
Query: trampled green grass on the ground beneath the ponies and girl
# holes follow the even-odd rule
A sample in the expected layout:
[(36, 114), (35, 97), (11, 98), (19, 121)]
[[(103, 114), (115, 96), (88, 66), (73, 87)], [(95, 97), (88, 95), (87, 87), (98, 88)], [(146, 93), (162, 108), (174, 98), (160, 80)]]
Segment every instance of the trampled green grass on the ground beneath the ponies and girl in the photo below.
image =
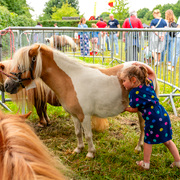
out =
[[(106, 52), (108, 53), (108, 52)], [(106, 60), (108, 63), (111, 59)], [(100, 59), (96, 59), (100, 61)], [(88, 59), (92, 63), (92, 59)], [(159, 83), (160, 93), (164, 92), (164, 84)], [(172, 89), (166, 87), (166, 93)], [(180, 150), (180, 117), (173, 115), (171, 104), (163, 102), (165, 98), (160, 98), (161, 104), (166, 108), (171, 117), (173, 128), (173, 141)], [(175, 97), (174, 102), (178, 114), (180, 114), (180, 98)], [(6, 102), (6, 105), (14, 113), (18, 107), (13, 102)], [(5, 111), (2, 107), (0, 107)], [(116, 117), (108, 118), (110, 128), (104, 132), (93, 131), (93, 140), (96, 147), (94, 159), (87, 159), (87, 143), (80, 154), (73, 154), (77, 140), (74, 132), (74, 125), (71, 116), (62, 107), (48, 105), (48, 115), (51, 125), (46, 128), (37, 127), (38, 116), (35, 111), (29, 118), (29, 124), (35, 128), (36, 134), (46, 144), (55, 156), (58, 156), (63, 164), (72, 173), (68, 174), (74, 180), (151, 180), (151, 179), (179, 179), (180, 171), (177, 168), (171, 169), (169, 166), (173, 162), (173, 157), (164, 145), (154, 145), (151, 157), (151, 169), (149, 171), (140, 170), (136, 161), (143, 159), (143, 152), (135, 153), (134, 148), (139, 138), (139, 125), (136, 114), (122, 113)]]

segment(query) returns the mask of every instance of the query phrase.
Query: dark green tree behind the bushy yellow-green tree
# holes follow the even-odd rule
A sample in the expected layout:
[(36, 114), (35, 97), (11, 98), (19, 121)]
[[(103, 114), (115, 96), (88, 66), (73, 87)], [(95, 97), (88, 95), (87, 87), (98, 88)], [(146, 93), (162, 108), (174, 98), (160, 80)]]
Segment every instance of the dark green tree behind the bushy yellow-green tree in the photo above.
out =
[(78, 0), (49, 0), (45, 4), (45, 9), (43, 10), (44, 15), (45, 16), (48, 15), (50, 17), (54, 13), (53, 8), (56, 7), (57, 9), (60, 9), (63, 3), (70, 4), (74, 9), (77, 10), (79, 14), (79, 1)]

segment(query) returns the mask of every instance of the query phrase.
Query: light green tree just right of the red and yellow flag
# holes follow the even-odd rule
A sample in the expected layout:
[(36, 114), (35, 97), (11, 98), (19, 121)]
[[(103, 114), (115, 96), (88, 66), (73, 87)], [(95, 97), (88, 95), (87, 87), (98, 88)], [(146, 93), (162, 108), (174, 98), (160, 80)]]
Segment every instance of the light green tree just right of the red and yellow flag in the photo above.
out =
[(129, 16), (129, 7), (127, 0), (116, 0), (114, 6), (114, 17), (119, 20), (124, 20)]

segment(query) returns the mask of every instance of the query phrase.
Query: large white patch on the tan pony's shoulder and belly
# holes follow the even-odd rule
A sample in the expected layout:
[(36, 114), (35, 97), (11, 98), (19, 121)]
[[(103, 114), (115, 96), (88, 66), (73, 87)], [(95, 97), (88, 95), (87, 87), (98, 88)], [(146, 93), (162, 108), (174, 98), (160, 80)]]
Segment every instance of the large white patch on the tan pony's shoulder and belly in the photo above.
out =
[(72, 79), (84, 114), (108, 117), (124, 110), (122, 89), (116, 76), (105, 75), (60, 52), (53, 52), (58, 67)]

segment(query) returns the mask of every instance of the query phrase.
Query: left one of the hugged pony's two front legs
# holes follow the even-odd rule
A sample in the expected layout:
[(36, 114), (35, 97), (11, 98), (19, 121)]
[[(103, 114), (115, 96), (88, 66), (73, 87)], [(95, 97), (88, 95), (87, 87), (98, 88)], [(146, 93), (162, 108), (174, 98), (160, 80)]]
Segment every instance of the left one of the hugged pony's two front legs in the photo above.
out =
[(75, 153), (80, 153), (82, 149), (84, 148), (84, 142), (83, 142), (83, 131), (81, 127), (81, 123), (79, 119), (72, 117), (74, 121), (74, 127), (75, 127), (75, 134), (77, 136), (78, 145), (77, 148), (74, 149)]

